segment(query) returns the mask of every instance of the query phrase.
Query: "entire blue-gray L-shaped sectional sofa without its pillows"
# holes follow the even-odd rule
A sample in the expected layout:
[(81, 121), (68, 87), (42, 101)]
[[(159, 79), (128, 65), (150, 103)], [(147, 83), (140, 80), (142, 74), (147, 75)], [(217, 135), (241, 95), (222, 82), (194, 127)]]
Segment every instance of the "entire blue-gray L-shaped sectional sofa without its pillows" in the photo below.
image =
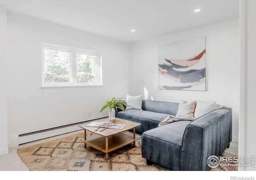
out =
[(176, 115), (179, 103), (142, 100), (142, 110), (116, 111), (116, 117), (141, 126), (142, 157), (170, 170), (210, 170), (207, 158), (220, 156), (232, 140), (232, 109), (214, 110), (193, 121), (181, 120), (158, 127)]

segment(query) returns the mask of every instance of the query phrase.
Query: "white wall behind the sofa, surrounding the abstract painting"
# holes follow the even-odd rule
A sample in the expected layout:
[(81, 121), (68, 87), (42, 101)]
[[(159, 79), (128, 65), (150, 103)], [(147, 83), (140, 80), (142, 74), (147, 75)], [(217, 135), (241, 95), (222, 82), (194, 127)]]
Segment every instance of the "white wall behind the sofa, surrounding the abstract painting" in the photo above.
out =
[[(206, 36), (206, 91), (159, 90), (158, 45)], [(179, 102), (216, 101), (232, 108), (233, 141), (238, 141), (239, 20), (234, 19), (132, 44), (132, 95)]]

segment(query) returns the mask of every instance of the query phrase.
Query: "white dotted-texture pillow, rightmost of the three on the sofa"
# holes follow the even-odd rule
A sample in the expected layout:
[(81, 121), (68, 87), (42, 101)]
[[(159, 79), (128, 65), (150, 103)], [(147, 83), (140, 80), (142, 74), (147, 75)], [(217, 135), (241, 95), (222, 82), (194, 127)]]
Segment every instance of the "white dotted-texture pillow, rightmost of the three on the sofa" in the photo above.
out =
[(199, 118), (203, 116), (204, 114), (207, 114), (208, 112), (212, 112), (215, 108), (215, 101), (212, 102), (203, 102), (198, 100), (196, 102), (196, 109), (194, 112), (194, 117)]

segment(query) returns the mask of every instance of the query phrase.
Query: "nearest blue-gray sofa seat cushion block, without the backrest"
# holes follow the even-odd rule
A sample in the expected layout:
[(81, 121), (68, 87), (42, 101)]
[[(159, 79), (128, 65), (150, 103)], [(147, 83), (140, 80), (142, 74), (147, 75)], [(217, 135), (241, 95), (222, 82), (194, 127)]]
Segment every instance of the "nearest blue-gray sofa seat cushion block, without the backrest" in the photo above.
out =
[[(189, 121), (173, 122), (142, 134), (142, 157), (147, 164), (155, 162), (179, 170), (182, 138)], [(170, 163), (172, 162), (172, 163)]]

